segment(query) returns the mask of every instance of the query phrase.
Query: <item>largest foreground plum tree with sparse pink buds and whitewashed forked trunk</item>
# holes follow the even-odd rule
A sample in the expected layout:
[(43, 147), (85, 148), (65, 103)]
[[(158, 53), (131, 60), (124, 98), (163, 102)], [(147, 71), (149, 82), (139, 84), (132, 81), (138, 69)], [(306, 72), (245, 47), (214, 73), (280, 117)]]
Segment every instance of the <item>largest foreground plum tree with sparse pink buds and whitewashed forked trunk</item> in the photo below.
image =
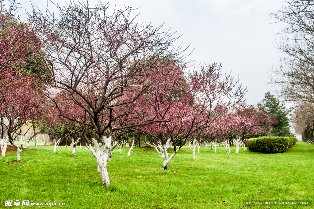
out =
[[(173, 34), (160, 31), (161, 27), (135, 23), (132, 8), (109, 14), (107, 7), (101, 2), (93, 8), (89, 3), (71, 3), (57, 5), (58, 17), (35, 9), (29, 17), (45, 51), (39, 63), (50, 71), (47, 80), (54, 91), (48, 96), (68, 91), (73, 103), (84, 109), (86, 120), (76, 121), (84, 125), (78, 135), (95, 156), (104, 186), (110, 186), (106, 165), (117, 144), (111, 146), (117, 141), (113, 134), (145, 123), (119, 124), (118, 118), (133, 112), (116, 109), (134, 102), (148, 88), (147, 61), (155, 65), (154, 60), (160, 57), (181, 60), (184, 51), (172, 48)], [(128, 100), (119, 99), (128, 92), (134, 92)], [(74, 120), (66, 112), (60, 116)], [(102, 142), (102, 151), (96, 139)]]

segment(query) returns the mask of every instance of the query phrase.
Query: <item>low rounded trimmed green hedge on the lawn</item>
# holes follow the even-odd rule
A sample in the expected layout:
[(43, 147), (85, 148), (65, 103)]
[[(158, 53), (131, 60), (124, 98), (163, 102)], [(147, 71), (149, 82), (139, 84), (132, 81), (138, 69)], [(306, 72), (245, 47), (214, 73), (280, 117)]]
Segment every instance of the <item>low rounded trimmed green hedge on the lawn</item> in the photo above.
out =
[(246, 146), (253, 152), (279, 153), (287, 151), (296, 141), (295, 137), (260, 137), (248, 140)]

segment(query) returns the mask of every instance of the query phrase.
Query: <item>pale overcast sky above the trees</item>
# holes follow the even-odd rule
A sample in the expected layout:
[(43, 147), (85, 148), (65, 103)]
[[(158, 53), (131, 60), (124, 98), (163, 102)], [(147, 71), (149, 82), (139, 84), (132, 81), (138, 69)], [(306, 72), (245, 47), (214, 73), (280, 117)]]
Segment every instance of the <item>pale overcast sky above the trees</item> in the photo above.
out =
[[(64, 4), (62, 0), (53, 2)], [(97, 0), (89, 2), (93, 8)], [(19, 3), (22, 3), (19, 14), (25, 19), (25, 10), (31, 11), (30, 3), (27, 0)], [(191, 44), (188, 50), (194, 49), (190, 60), (223, 62), (223, 70), (232, 71), (249, 89), (245, 96), (248, 102), (256, 104), (264, 93), (272, 91), (265, 82), (269, 70), (278, 66), (282, 56), (275, 47), (279, 37), (274, 32), (284, 25), (272, 24), (274, 19), (269, 19), (269, 13), (281, 8), (283, 0), (112, 0), (110, 3), (112, 8), (142, 5), (134, 11), (140, 13), (137, 22), (164, 24), (164, 29), (171, 28), (176, 36), (182, 35), (178, 44)], [(47, 2), (32, 0), (32, 4), (45, 10)], [(54, 8), (50, 1), (48, 8)]]

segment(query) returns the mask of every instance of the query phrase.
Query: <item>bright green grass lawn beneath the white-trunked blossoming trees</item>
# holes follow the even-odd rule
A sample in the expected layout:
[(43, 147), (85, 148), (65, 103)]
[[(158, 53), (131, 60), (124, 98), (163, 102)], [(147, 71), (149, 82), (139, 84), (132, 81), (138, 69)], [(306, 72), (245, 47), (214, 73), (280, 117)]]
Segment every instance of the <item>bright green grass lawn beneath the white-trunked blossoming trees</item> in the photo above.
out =
[[(160, 171), (163, 159), (154, 149), (113, 151), (108, 162), (111, 186), (104, 188), (96, 159), (85, 147), (23, 150), (24, 163), (12, 164), (16, 153), (0, 157), (0, 208), (6, 200), (65, 202), (57, 208), (314, 208), (311, 206), (245, 206), (244, 200), (313, 200), (314, 146), (297, 142), (280, 154), (243, 152), (230, 158), (222, 147), (178, 152)], [(3, 162), (4, 161), (4, 162)], [(260, 191), (260, 192), (258, 192)], [(222, 203), (225, 201), (226, 203)], [(14, 208), (50, 208), (18, 206)]]

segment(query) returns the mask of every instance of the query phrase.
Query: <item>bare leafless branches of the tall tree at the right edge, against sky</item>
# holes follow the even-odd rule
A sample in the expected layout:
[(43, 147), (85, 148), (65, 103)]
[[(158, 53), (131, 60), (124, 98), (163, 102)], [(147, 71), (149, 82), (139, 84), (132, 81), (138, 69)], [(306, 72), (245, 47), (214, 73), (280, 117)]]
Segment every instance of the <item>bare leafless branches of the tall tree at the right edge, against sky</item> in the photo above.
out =
[(272, 71), (270, 83), (286, 101), (314, 102), (314, 2), (285, 0), (271, 16), (284, 23), (277, 45), (285, 56)]

